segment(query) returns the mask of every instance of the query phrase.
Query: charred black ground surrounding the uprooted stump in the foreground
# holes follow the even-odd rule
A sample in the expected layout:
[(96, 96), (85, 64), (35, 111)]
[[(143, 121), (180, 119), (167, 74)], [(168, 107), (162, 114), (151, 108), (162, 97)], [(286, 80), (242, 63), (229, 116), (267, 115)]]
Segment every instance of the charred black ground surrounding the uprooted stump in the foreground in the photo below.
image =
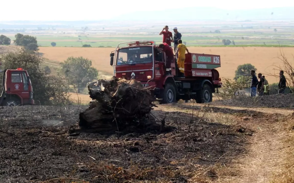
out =
[[(165, 128), (73, 133), (87, 106), (0, 109), (0, 182), (42, 182), (60, 177), (89, 182), (210, 182), (217, 164), (244, 154), (238, 127), (195, 112), (152, 111)], [(246, 138), (245, 138), (246, 137)], [(66, 179), (69, 181), (69, 179)], [(77, 181), (78, 182), (78, 181)]]

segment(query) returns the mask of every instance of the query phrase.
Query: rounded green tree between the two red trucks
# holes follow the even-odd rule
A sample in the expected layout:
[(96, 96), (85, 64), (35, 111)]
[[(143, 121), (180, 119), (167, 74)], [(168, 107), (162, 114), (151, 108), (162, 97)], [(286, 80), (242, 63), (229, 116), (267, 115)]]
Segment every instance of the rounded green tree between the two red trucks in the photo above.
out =
[(86, 87), (88, 82), (93, 81), (98, 76), (98, 71), (92, 67), (92, 61), (83, 57), (69, 57), (62, 65), (62, 71), (68, 79), (69, 84), (78, 88)]

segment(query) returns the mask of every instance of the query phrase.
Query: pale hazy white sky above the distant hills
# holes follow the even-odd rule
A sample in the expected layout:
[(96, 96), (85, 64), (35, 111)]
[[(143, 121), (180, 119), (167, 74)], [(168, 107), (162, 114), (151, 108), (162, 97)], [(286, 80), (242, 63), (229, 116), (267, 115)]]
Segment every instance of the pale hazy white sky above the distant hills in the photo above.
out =
[(228, 10), (293, 7), (294, 10), (294, 1), (289, 0), (49, 0), (43, 3), (40, 0), (2, 0), (0, 21), (103, 20), (132, 12), (136, 16), (135, 12), (141, 10), (175, 9), (176, 5), (180, 5), (179, 8), (206, 6)]

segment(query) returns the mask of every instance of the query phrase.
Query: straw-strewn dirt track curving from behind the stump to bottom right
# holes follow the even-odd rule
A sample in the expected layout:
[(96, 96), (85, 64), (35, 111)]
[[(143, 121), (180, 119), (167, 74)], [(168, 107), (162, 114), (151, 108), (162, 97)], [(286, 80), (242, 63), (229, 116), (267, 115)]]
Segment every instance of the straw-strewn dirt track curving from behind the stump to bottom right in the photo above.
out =
[[(190, 110), (185, 106), (193, 104), (180, 104), (173, 107), (167, 107), (165, 111), (170, 110)], [(204, 106), (202, 104), (194, 104)], [(278, 173), (283, 168), (283, 158), (286, 148), (283, 145), (283, 139), (286, 132), (282, 129), (282, 123), (279, 119), (283, 115), (293, 113), (293, 110), (273, 109), (273, 108), (247, 108), (247, 107), (230, 107), (230, 106), (211, 106), (215, 107), (215, 112), (230, 111), (235, 113), (236, 110), (248, 110), (248, 115), (254, 112), (262, 112), (262, 116), (236, 117), (235, 124), (245, 129), (253, 130), (254, 134), (249, 137), (247, 152), (239, 158), (233, 159), (220, 170), (221, 174), (216, 182), (221, 183), (268, 183), (273, 178), (273, 174)], [(186, 111), (188, 112), (188, 111)], [(229, 112), (228, 112), (229, 113)], [(278, 114), (277, 114), (278, 113)], [(244, 114), (244, 113), (243, 113)], [(282, 115), (279, 115), (282, 114)], [(233, 114), (232, 114), (233, 115)], [(247, 115), (247, 113), (245, 113)], [(250, 116), (250, 115), (249, 115)], [(229, 144), (228, 144), (229, 145)]]

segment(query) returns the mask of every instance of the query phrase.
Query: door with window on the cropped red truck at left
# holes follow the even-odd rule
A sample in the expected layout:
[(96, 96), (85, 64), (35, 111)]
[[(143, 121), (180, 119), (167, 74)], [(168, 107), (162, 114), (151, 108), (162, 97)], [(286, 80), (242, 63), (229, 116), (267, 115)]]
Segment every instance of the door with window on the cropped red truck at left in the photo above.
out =
[(11, 81), (10, 86), (7, 87), (8, 91), (11, 92), (11, 94), (19, 94), (21, 95), (21, 92), (24, 90), (24, 83), (22, 78), (22, 71), (11, 71)]

